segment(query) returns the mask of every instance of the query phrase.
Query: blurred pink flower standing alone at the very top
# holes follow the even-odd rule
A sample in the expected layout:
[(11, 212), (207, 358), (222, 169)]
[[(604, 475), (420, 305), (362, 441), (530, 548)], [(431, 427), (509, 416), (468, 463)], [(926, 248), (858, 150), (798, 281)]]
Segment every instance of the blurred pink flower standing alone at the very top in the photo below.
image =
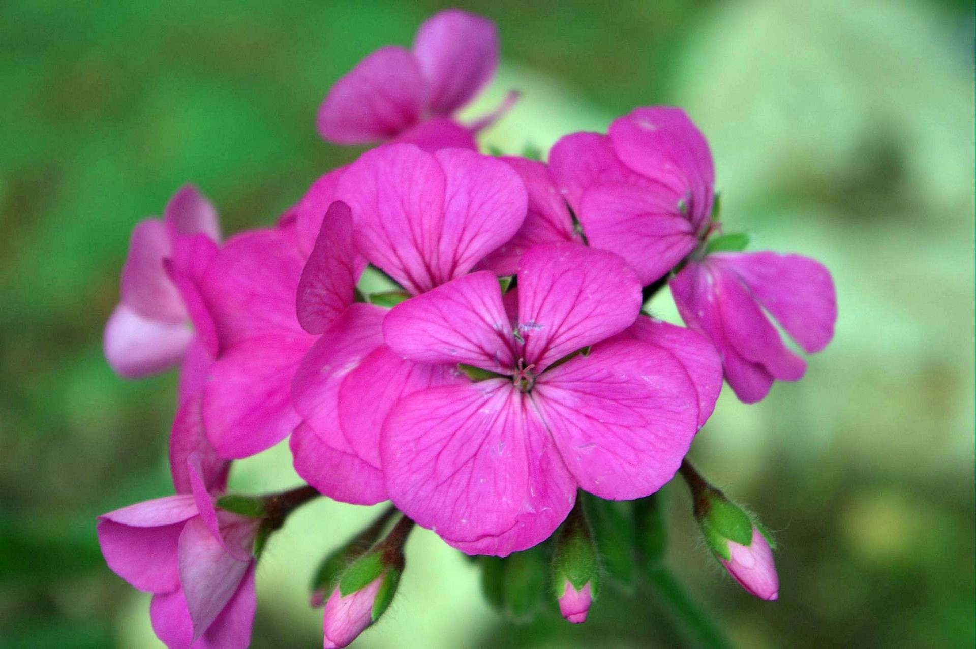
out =
[(428, 150), (456, 146), (476, 149), (474, 131), (495, 115), (464, 127), (451, 115), (495, 74), (495, 25), (450, 9), (428, 19), (413, 51), (389, 45), (360, 61), (329, 91), (318, 110), (318, 132), (337, 144), (411, 142)]

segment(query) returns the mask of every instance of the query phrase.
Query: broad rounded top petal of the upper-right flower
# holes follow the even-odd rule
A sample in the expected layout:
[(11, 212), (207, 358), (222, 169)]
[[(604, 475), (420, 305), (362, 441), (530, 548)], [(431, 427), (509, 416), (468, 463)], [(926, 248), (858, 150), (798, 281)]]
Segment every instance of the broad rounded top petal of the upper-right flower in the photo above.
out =
[(610, 125), (614, 152), (630, 169), (687, 196), (688, 219), (699, 227), (712, 216), (715, 171), (705, 136), (680, 108), (636, 108)]

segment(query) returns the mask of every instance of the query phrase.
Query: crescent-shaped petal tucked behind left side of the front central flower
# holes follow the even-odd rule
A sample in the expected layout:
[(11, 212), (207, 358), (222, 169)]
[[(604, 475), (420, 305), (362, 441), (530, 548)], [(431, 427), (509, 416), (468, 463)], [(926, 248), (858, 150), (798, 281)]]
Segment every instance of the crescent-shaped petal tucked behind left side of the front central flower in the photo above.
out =
[(386, 309), (352, 304), (302, 359), (292, 381), (292, 400), (305, 424), (332, 448), (355, 455), (339, 425), (339, 388), (362, 359), (383, 345)]

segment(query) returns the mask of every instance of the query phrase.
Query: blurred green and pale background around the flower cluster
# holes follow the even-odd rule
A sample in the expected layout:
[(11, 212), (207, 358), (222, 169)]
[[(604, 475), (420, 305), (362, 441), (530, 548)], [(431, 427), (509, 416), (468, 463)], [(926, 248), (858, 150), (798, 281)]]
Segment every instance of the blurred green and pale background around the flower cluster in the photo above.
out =
[[(726, 390), (692, 454), (777, 530), (780, 601), (706, 554), (681, 484), (669, 563), (735, 642), (974, 645), (974, 13), (971, 2), (462, 2), (499, 24), (475, 114), (515, 152), (684, 106), (712, 142), (729, 231), (832, 269), (836, 338), (798, 384)], [(409, 44), (441, 3), (14, 0), (0, 6), (0, 647), (155, 647), (148, 596), (102, 562), (96, 514), (171, 493), (175, 376), (102, 359), (129, 232), (197, 183), (228, 232), (272, 220), (355, 150), (315, 109), (355, 61)], [(665, 296), (655, 307), (666, 317)], [(286, 448), (233, 486), (297, 483)], [(321, 646), (318, 558), (371, 516), (316, 502), (259, 571), (256, 647)], [(386, 618), (356, 646), (671, 647), (648, 593), (590, 621), (516, 626), (421, 531)]]

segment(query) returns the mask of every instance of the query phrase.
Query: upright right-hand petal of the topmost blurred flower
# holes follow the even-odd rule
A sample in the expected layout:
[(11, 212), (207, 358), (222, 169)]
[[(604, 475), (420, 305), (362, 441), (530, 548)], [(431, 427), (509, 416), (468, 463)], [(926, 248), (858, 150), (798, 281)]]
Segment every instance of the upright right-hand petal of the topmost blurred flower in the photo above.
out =
[(414, 56), (427, 78), (427, 109), (448, 115), (468, 103), (495, 75), (498, 32), (491, 20), (449, 9), (421, 25)]

